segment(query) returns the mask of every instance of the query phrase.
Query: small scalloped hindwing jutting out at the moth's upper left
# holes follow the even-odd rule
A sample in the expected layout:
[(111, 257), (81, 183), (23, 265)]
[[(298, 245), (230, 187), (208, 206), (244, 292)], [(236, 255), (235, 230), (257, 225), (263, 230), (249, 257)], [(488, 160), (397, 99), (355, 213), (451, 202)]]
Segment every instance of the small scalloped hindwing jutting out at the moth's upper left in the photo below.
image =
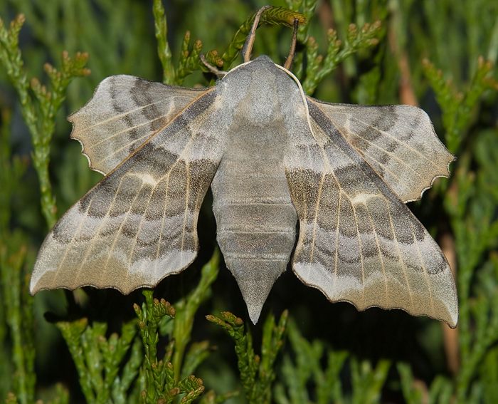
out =
[(108, 77), (68, 118), (71, 138), (81, 143), (92, 170), (108, 174), (204, 92), (134, 76)]

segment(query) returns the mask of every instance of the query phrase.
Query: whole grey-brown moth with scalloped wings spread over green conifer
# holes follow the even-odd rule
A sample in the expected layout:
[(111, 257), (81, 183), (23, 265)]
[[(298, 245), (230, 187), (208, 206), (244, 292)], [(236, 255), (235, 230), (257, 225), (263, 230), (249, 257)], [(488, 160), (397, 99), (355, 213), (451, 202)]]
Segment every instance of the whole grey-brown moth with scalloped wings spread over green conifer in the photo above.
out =
[(299, 221), (292, 270), (329, 301), (455, 327), (450, 267), (405, 205), (454, 160), (428, 115), (308, 97), (289, 70), (292, 55), (285, 66), (250, 60), (257, 26), (245, 62), (211, 88), (112, 76), (70, 115), (71, 138), (105, 177), (46, 237), (31, 293), (128, 294), (178, 274), (198, 252), (211, 186), (218, 244), (253, 323), (287, 268)]

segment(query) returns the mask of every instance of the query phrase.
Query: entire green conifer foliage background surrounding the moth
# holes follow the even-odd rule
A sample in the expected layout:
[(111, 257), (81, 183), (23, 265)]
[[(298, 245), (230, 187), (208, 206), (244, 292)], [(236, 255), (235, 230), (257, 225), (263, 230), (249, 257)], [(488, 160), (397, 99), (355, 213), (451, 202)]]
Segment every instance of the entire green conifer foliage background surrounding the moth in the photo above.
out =
[[(152, 328), (137, 331), (132, 305), (144, 301), (140, 291), (129, 296), (95, 289), (29, 296), (28, 277), (49, 227), (101, 177), (88, 169), (78, 142), (69, 140), (71, 128), (65, 117), (113, 74), (183, 86), (212, 85), (213, 75), (198, 63), (195, 41), (201, 40), (203, 53), (218, 50), (209, 52), (208, 59), (224, 62), (220, 67), (228, 70), (240, 63), (240, 56), (232, 61), (223, 57), (223, 51), (237, 49), (235, 33), (265, 2), (164, 1), (169, 43), (165, 51), (160, 1), (3, 0), (0, 400), (156, 403), (168, 402), (164, 392), (178, 388), (171, 400), (183, 397), (189, 402), (189, 392), (198, 392), (203, 383), (204, 393), (189, 397), (206, 403), (225, 399), (232, 403), (498, 403), (498, 75), (494, 68), (498, 3), (282, 0), (271, 4), (309, 19), (300, 28), (293, 66), (309, 95), (336, 103), (419, 105), (457, 156), (450, 167), (452, 177), (436, 180), (423, 200), (409, 207), (456, 271), (459, 326), (450, 330), (403, 311), (360, 313), (346, 303), (331, 304), (319, 291), (301, 284), (292, 271), (278, 279), (260, 322), (253, 326), (223, 259), (219, 272), (218, 265), (211, 272), (205, 266), (201, 278), (201, 267), (216, 247), (209, 195), (199, 219), (198, 259), (154, 290), (154, 296), (176, 307), (174, 320), (159, 313), (156, 328), (147, 323)], [(18, 14), (26, 17), (22, 29), (20, 20), (9, 28)], [(269, 16), (260, 26), (253, 55), (264, 53), (283, 64), (292, 33), (284, 20)], [(241, 27), (243, 32), (247, 26)], [(191, 36), (188, 50), (186, 31)], [(61, 59), (63, 51), (70, 61)], [(88, 61), (85, 55), (76, 56), (78, 51), (88, 53)], [(44, 68), (45, 63), (60, 74)], [(195, 303), (189, 306), (189, 301)], [(288, 320), (285, 314), (281, 318), (285, 309)], [(144, 303), (144, 313), (153, 310)], [(222, 311), (236, 314), (245, 326)], [(207, 314), (218, 320), (206, 321)], [(273, 315), (286, 325), (282, 336), (278, 326), (272, 328)], [(81, 323), (82, 318), (88, 319), (88, 325)], [(181, 331), (181, 321), (190, 321), (191, 329)], [(107, 328), (98, 328), (102, 323)], [(117, 338), (111, 336), (114, 332), (124, 335), (123, 323), (132, 324), (129, 341), (120, 339), (122, 357), (107, 363), (111, 353), (105, 344)], [(163, 373), (142, 363), (143, 358), (144, 363), (156, 359), (147, 351), (143, 329), (153, 333), (158, 328), (159, 343), (152, 345), (157, 344), (165, 363), (172, 361), (174, 382), (149, 383), (149, 376)], [(185, 356), (179, 349), (180, 337)], [(169, 357), (166, 343), (173, 338), (177, 342)], [(92, 341), (100, 341), (98, 349), (92, 348)], [(252, 356), (251, 347), (262, 361)], [(265, 349), (280, 353), (271, 358)], [(195, 358), (198, 363), (188, 363)], [(128, 363), (132, 365), (127, 367)], [(241, 363), (257, 371), (241, 368)], [(188, 375), (186, 368), (203, 381), (181, 384)], [(119, 380), (113, 378), (116, 373)], [(123, 382), (127, 377), (128, 384)], [(119, 393), (113, 383), (127, 387)], [(149, 392), (146, 396), (140, 393), (144, 389)], [(208, 390), (213, 393), (206, 394)], [(223, 397), (236, 390), (238, 396)]]

